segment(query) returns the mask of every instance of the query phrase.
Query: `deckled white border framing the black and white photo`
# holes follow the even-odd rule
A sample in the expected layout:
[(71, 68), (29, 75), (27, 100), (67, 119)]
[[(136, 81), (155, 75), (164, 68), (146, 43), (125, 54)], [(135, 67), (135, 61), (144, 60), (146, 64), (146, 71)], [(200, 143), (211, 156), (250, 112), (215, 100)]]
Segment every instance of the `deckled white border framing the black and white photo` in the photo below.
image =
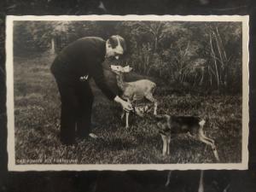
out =
[[(14, 108), (14, 69), (13, 69), (13, 21), (14, 20), (166, 20), (166, 21), (241, 21), (242, 22), (242, 158), (236, 164), (122, 164), (122, 165), (16, 165), (15, 164), (15, 108)], [(241, 15), (86, 15), (86, 16), (13, 16), (6, 19), (6, 72), (7, 72), (7, 113), (8, 113), (8, 154), (9, 171), (87, 171), (87, 170), (246, 170), (248, 163), (248, 39), (249, 16)]]

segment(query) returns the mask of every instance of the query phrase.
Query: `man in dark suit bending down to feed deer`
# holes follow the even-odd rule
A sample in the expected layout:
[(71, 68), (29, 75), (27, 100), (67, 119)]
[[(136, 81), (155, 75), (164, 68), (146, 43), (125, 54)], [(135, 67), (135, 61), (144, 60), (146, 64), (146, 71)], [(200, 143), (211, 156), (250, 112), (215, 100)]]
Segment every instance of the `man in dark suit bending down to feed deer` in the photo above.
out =
[(61, 143), (73, 144), (76, 133), (80, 138), (90, 134), (94, 97), (88, 82), (90, 77), (109, 100), (118, 102), (126, 111), (132, 110), (130, 103), (109, 89), (102, 69), (105, 57), (119, 59), (125, 49), (125, 39), (118, 35), (107, 41), (96, 37), (79, 38), (55, 58), (50, 69), (61, 95)]

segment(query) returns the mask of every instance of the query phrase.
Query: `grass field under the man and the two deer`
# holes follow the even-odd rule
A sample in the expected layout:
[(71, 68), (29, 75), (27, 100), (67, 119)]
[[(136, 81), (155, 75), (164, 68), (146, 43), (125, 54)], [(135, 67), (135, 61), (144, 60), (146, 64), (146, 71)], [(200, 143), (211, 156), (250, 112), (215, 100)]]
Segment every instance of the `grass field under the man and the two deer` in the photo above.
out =
[[(131, 117), (125, 129), (119, 119), (121, 108), (95, 92), (93, 132), (98, 140), (78, 141), (63, 146), (58, 139), (60, 100), (55, 80), (49, 73), (53, 56), (15, 57), (15, 160), (17, 164), (149, 164), (214, 163), (212, 149), (194, 140), (177, 137), (171, 155), (162, 156), (160, 135), (152, 119)], [(113, 81), (113, 74), (111, 75)], [(93, 84), (93, 83), (92, 83)], [(158, 84), (155, 98), (159, 113), (207, 116), (206, 135), (218, 148), (221, 163), (241, 162), (241, 96), (174, 94)]]

